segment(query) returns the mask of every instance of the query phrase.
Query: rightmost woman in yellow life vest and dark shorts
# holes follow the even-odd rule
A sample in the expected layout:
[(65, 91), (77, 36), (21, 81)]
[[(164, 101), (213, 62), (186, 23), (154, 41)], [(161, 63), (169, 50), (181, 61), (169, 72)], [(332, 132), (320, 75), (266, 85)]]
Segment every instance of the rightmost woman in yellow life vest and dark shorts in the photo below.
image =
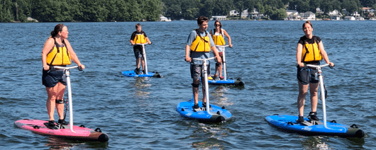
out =
[(309, 117), (311, 120), (319, 120), (316, 116), (317, 91), (319, 89), (317, 70), (304, 66), (306, 64), (320, 64), (321, 59), (324, 59), (330, 66), (334, 66), (333, 62), (329, 61), (328, 54), (326, 54), (320, 37), (312, 34), (313, 30), (314, 28), (310, 21), (303, 23), (304, 36), (300, 37), (297, 45), (297, 79), (299, 83), (299, 96), (297, 98), (299, 110), (298, 122), (304, 122), (304, 100), (308, 87), (311, 99), (311, 112), (309, 113)]

